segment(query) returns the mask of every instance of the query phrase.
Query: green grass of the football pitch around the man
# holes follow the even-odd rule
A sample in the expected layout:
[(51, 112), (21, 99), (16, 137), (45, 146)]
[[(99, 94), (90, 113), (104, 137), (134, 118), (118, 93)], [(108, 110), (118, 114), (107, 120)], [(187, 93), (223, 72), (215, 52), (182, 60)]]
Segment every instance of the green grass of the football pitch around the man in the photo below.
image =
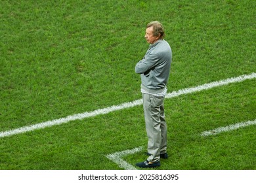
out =
[[(168, 92), (255, 73), (255, 1), (1, 1), (0, 131), (140, 99), (145, 26), (173, 50)], [(169, 159), (158, 169), (256, 169), (256, 82), (165, 100)], [(0, 139), (0, 169), (120, 169), (144, 161), (142, 106)], [(104, 162), (104, 163), (102, 163)]]

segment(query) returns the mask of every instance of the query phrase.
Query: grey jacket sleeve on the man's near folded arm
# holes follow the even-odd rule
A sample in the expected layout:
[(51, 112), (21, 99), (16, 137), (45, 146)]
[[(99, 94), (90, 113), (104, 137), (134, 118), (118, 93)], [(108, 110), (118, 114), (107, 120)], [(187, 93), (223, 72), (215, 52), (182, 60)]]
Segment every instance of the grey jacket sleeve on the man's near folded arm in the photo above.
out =
[(147, 73), (148, 70), (152, 69), (152, 67), (156, 66), (158, 63), (158, 55), (157, 54), (149, 54), (145, 56), (142, 60), (140, 60), (135, 66), (135, 73), (143, 74)]

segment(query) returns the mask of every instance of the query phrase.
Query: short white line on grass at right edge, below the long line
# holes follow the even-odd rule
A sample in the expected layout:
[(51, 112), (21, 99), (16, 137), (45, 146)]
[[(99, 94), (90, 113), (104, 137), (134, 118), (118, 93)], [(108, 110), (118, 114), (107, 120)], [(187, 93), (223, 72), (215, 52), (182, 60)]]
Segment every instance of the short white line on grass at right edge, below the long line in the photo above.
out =
[(218, 127), (209, 131), (203, 131), (201, 133), (202, 136), (209, 136), (209, 135), (217, 135), (218, 133), (224, 132), (224, 131), (231, 131), (234, 129), (238, 129), (240, 127), (246, 127), (249, 125), (256, 125), (256, 119), (254, 121), (247, 121), (247, 122), (242, 122), (242, 123), (237, 123), (237, 124), (232, 124), (228, 125), (225, 127)]

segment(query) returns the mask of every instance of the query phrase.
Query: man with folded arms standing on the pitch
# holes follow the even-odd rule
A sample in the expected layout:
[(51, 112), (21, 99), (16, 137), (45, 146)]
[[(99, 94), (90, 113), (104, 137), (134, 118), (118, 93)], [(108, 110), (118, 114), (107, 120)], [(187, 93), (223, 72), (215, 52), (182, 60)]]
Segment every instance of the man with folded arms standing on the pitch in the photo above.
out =
[(137, 163), (137, 167), (159, 167), (160, 157), (167, 155), (167, 125), (163, 99), (167, 93), (167, 81), (171, 69), (172, 52), (160, 22), (150, 22), (146, 26), (144, 38), (150, 43), (149, 49), (135, 67), (140, 74), (144, 119), (148, 135), (148, 158)]

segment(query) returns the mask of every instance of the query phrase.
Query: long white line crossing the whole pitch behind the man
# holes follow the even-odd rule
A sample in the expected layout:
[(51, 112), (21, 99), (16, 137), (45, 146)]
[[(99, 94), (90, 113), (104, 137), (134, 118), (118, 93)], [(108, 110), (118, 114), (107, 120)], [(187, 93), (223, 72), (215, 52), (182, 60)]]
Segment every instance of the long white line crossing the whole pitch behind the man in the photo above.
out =
[[(179, 95), (184, 95), (184, 94), (193, 93), (193, 92), (199, 92), (202, 90), (208, 90), (210, 88), (214, 88), (217, 86), (223, 86), (223, 85), (227, 85), (227, 84), (231, 84), (231, 83), (235, 83), (235, 82), (242, 82), (244, 80), (253, 79), (253, 78), (256, 78), (256, 73), (251, 73), (250, 75), (242, 75), (242, 76), (238, 76), (236, 78), (228, 78), (226, 80), (219, 80), (217, 82), (210, 82), (210, 83), (196, 86), (193, 88), (185, 88), (182, 90), (178, 90), (177, 92), (167, 93), (165, 98), (168, 99), (168, 98), (172, 98), (172, 97), (178, 97)], [(26, 133), (28, 131), (33, 131), (35, 129), (43, 129), (45, 127), (51, 127), (53, 125), (66, 124), (66, 123), (74, 121), (74, 120), (83, 120), (84, 118), (90, 118), (93, 116), (98, 116), (100, 114), (108, 114), (109, 112), (114, 112), (116, 110), (122, 110), (124, 108), (131, 108), (131, 107), (135, 107), (137, 105), (142, 105), (142, 99), (132, 101), (129, 103), (123, 103), (121, 105), (114, 105), (112, 107), (94, 110), (92, 112), (83, 112), (80, 114), (74, 114), (72, 116), (67, 116), (66, 118), (60, 118), (60, 119), (56, 119), (56, 120), (42, 122), (42, 123), (35, 124), (35, 125), (28, 125), (28, 126), (20, 127), (17, 129), (11, 129), (8, 131), (1, 131), (0, 138), (1, 137), (9, 137), (11, 135), (16, 135), (19, 133)]]

